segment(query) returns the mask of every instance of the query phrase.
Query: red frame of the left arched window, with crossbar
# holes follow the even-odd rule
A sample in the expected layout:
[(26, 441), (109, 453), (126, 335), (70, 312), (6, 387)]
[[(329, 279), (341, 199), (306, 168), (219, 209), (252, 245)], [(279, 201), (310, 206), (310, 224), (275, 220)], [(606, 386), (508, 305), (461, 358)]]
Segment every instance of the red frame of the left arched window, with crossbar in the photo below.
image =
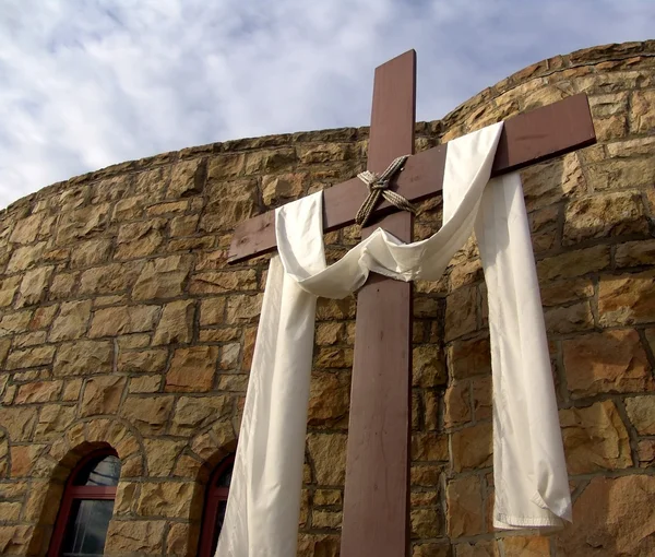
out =
[(61, 546), (63, 544), (63, 537), (66, 530), (71, 518), (71, 509), (73, 501), (76, 499), (116, 499), (116, 486), (84, 486), (73, 485), (75, 478), (80, 474), (80, 471), (86, 466), (91, 461), (100, 460), (104, 457), (116, 457), (118, 453), (107, 447), (106, 449), (99, 449), (92, 452), (87, 457), (84, 457), (73, 471), (69, 474), (63, 488), (63, 497), (57, 513), (57, 520), (55, 521), (55, 530), (52, 531), (52, 537), (50, 540), (50, 548), (48, 549), (47, 557), (59, 557), (61, 554)]

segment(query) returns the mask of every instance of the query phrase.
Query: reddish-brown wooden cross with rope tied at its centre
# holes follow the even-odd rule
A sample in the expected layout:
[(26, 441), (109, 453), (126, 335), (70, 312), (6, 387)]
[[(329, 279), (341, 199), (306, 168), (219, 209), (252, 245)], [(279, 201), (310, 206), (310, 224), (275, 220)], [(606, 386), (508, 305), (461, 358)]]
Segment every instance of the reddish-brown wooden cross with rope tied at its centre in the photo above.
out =
[[(414, 154), (415, 106), (416, 52), (409, 50), (376, 69), (369, 170), (382, 173), (396, 156)], [(586, 95), (574, 95), (507, 120), (491, 175), (595, 142)], [(410, 201), (436, 195), (446, 150), (443, 144), (409, 157), (392, 188)], [(323, 227), (330, 232), (355, 222), (367, 189), (353, 178), (323, 195)], [(382, 227), (412, 241), (413, 215), (393, 211), (381, 203), (362, 238)], [(228, 261), (273, 251), (274, 224), (274, 211), (240, 224)], [(371, 273), (357, 295), (355, 334), (341, 555), (402, 557), (409, 555), (412, 285)]]

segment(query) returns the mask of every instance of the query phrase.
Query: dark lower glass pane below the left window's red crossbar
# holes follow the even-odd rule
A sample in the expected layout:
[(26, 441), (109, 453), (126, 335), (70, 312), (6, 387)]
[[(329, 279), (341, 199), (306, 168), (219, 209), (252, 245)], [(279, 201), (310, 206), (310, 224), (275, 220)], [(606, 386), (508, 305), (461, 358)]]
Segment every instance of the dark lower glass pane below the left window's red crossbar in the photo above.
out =
[(62, 544), (62, 557), (103, 555), (112, 511), (112, 500), (74, 500)]

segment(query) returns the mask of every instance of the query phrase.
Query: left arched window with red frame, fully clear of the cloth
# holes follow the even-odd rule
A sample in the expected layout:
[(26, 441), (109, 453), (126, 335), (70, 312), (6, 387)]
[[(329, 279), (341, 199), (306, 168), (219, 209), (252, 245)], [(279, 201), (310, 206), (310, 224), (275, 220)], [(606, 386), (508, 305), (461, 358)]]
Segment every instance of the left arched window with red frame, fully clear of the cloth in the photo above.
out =
[(83, 459), (66, 483), (48, 557), (95, 557), (104, 554), (114, 512), (120, 460), (114, 449)]

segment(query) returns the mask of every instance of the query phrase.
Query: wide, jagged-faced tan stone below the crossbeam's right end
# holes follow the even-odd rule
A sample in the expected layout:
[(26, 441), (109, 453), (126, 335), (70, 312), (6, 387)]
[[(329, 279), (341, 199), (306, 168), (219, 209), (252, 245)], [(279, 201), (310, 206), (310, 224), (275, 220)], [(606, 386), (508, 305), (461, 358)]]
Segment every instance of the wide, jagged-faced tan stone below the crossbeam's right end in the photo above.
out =
[(576, 199), (567, 205), (563, 233), (565, 246), (591, 238), (630, 234), (648, 234), (648, 220), (638, 192), (605, 193)]

